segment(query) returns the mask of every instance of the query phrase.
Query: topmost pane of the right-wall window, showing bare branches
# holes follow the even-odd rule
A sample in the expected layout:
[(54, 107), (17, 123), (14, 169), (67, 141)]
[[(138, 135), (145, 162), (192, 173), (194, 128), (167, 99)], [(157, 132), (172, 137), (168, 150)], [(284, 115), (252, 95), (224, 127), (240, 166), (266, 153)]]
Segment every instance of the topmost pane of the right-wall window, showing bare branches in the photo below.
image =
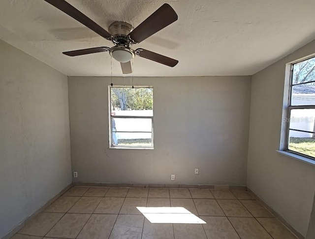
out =
[(293, 65), (292, 84), (305, 83), (315, 80), (315, 58)]

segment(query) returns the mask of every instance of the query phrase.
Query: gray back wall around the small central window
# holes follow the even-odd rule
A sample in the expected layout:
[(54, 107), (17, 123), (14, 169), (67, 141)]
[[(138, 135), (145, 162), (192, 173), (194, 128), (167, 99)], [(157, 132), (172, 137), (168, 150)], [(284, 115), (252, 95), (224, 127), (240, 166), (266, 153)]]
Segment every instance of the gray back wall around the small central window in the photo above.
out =
[(75, 182), (246, 185), (250, 77), (134, 78), (154, 86), (154, 150), (108, 149), (110, 77), (68, 82)]

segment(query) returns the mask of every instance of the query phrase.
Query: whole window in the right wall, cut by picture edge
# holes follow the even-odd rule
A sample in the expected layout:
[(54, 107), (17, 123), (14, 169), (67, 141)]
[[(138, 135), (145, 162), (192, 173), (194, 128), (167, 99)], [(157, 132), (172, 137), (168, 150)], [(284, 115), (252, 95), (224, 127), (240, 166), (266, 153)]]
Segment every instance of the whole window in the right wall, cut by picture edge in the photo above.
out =
[(315, 57), (291, 65), (286, 150), (315, 159)]

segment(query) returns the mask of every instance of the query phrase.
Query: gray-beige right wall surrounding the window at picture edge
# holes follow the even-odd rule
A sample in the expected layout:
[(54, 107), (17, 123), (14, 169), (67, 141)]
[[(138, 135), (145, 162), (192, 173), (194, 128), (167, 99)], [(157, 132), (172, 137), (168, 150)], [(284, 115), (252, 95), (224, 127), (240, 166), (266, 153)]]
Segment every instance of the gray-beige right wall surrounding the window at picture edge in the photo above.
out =
[(248, 187), (304, 236), (313, 205), (315, 166), (276, 150), (280, 146), (285, 64), (313, 53), (315, 41), (252, 76), (249, 136)]

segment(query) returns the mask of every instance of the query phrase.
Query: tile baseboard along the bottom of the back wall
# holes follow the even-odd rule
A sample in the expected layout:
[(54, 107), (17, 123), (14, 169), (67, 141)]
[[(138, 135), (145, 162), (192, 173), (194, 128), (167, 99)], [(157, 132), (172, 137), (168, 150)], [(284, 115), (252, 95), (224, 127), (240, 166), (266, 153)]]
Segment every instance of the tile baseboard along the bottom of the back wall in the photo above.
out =
[(241, 189), (244, 185), (207, 185), (207, 184), (162, 184), (162, 183), (100, 183), (100, 182), (73, 182), (73, 186), (86, 187), (125, 187), (125, 188), (207, 188), (207, 189)]

